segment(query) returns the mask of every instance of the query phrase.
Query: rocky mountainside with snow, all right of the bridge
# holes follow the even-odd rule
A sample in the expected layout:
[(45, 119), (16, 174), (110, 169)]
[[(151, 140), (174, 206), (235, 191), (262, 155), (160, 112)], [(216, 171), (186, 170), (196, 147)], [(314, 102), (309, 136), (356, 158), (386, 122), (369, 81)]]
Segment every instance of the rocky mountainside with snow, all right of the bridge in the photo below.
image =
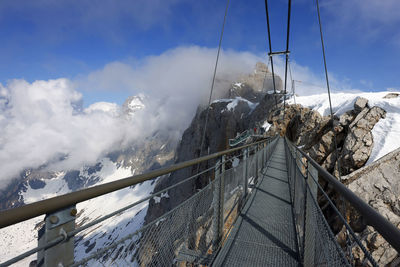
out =
[[(351, 97), (351, 101), (346, 103), (345, 108), (336, 107), (333, 121), (316, 110), (320, 105), (315, 105), (313, 97), (305, 102), (312, 103), (314, 106), (310, 106), (314, 109), (291, 104), (287, 106), (284, 116), (283, 109), (278, 107), (269, 114), (268, 122), (271, 127), (267, 134), (286, 135), (294, 144), (308, 152), (317, 163), (400, 228), (399, 149), (376, 160), (377, 155), (400, 146), (400, 142), (390, 138), (391, 133), (398, 133), (399, 129), (400, 116), (395, 107), (399, 100), (395, 99), (393, 93), (365, 96), (369, 99), (348, 94), (346, 97)], [(372, 106), (371, 103), (376, 106)], [(353, 105), (353, 109), (349, 109), (350, 105)], [(381, 127), (386, 130), (381, 132)], [(381, 133), (384, 135), (380, 135)], [(335, 153), (335, 136), (338, 154)], [(391, 141), (389, 148), (382, 142), (386, 138), (387, 141)], [(341, 198), (333, 188), (321, 178), (319, 182), (336, 206), (346, 213), (351, 227), (363, 240), (376, 262), (380, 266), (400, 264), (399, 255), (382, 236), (367, 226), (360, 214), (350, 205), (346, 205), (346, 210), (343, 210)], [(320, 195), (318, 201), (332, 230), (338, 234), (339, 241), (344, 246), (343, 224), (324, 197)], [(357, 246), (353, 248), (353, 252), (356, 265), (361, 266), (363, 253)]]

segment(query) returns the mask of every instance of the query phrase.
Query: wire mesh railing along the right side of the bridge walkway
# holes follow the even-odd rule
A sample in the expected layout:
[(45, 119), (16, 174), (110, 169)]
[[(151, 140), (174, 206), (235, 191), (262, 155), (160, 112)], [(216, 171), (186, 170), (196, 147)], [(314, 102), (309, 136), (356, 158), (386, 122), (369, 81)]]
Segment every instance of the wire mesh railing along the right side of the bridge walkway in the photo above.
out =
[[(378, 266), (319, 184), (320, 170), (316, 169), (316, 163), (288, 140), (286, 155), (299, 251), (304, 266)], [(334, 235), (320, 208), (319, 197), (328, 201), (348, 233), (350, 244), (339, 245), (338, 235)], [(354, 261), (353, 251), (362, 254), (360, 261)]]

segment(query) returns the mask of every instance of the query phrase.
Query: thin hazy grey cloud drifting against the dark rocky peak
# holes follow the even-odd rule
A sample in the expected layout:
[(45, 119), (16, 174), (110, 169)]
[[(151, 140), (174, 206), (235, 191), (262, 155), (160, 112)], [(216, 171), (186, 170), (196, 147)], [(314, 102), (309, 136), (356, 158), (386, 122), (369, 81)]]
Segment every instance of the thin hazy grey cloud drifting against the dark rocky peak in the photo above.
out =
[[(141, 62), (113, 62), (76, 81), (82, 90), (122, 90), (132, 95), (143, 93), (159, 109), (159, 116), (168, 126), (182, 129), (190, 122), (197, 105), (209, 97), (216, 49), (198, 46), (179, 47)], [(247, 52), (222, 51), (217, 71), (214, 99), (221, 88), (242, 73), (250, 73), (258, 55)], [(173, 114), (172, 117), (168, 117)]]

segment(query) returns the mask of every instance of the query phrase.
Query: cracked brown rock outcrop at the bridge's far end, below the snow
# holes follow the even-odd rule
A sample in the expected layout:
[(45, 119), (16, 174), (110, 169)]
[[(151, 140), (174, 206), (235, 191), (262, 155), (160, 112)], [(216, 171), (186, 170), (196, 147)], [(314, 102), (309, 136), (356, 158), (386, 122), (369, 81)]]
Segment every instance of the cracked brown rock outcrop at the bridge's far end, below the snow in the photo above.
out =
[[(336, 169), (337, 177), (339, 168), (340, 174), (346, 175), (364, 166), (373, 148), (371, 130), (386, 114), (380, 107), (369, 107), (365, 98), (358, 98), (353, 110), (340, 117), (334, 116), (333, 122), (330, 117), (321, 116), (301, 105), (287, 106), (285, 116), (280, 108), (270, 113), (268, 122), (273, 126), (269, 134), (286, 134), (289, 140), (297, 146), (303, 146), (303, 150), (329, 172)], [(339, 162), (336, 159), (335, 142), (339, 150)]]

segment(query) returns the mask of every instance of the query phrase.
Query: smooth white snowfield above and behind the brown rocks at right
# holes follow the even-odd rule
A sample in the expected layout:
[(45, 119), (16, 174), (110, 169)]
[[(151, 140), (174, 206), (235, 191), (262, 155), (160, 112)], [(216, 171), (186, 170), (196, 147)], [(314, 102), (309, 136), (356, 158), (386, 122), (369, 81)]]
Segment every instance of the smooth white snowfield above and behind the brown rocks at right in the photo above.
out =
[[(388, 98), (390, 94), (392, 98)], [(395, 92), (371, 92), (371, 93), (335, 93), (331, 95), (333, 112), (341, 115), (353, 109), (358, 97), (368, 99), (370, 107), (378, 106), (386, 110), (386, 118), (372, 129), (374, 147), (367, 164), (374, 162), (387, 153), (400, 147), (400, 96)], [(397, 96), (396, 96), (397, 95)], [(289, 100), (294, 104), (294, 99)], [(296, 96), (296, 103), (318, 111), (321, 115), (329, 115), (329, 100), (327, 94), (310, 96)]]

